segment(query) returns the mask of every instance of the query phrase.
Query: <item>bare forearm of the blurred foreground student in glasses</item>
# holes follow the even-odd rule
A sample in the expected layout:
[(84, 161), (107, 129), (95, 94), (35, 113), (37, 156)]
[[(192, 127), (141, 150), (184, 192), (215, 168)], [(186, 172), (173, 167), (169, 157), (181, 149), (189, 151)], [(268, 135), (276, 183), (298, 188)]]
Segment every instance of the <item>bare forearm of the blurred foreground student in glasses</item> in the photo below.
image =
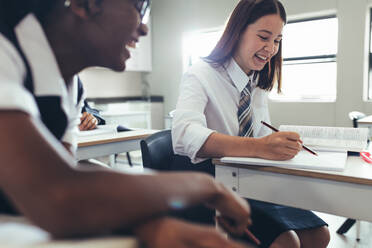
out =
[(31, 199), (23, 193), (17, 197), (27, 202), (22, 204), (22, 212), (56, 236), (97, 234), (130, 230), (143, 221), (165, 215), (180, 203), (187, 207), (210, 202), (218, 195), (209, 176), (193, 174), (193, 180), (190, 177), (74, 172), (67, 181), (56, 179), (54, 184), (45, 185), (46, 190), (30, 188), (28, 193), (38, 196), (37, 204), (30, 204)]

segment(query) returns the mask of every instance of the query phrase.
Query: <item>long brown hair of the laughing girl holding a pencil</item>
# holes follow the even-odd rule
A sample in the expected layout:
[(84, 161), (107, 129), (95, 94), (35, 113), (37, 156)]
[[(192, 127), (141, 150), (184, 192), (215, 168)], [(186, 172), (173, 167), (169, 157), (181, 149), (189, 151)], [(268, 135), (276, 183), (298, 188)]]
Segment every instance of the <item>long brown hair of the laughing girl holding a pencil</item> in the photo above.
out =
[[(278, 0), (240, 0), (232, 12), (222, 37), (212, 52), (204, 60), (216, 67), (222, 66), (234, 55), (240, 38), (247, 26), (259, 18), (279, 14), (283, 22), (287, 22), (287, 15), (281, 2)], [(278, 92), (282, 84), (282, 42), (280, 41), (278, 53), (259, 72), (257, 86), (264, 90), (272, 90), (275, 81), (278, 83)]]

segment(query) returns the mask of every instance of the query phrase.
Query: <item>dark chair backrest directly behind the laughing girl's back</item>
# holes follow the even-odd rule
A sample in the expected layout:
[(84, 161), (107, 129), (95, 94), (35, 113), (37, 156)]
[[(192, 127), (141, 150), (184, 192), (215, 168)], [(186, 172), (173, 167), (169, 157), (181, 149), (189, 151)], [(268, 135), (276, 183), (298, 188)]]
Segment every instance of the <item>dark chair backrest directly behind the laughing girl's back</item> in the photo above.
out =
[(143, 167), (170, 170), (174, 156), (171, 130), (162, 130), (141, 140), (141, 152)]

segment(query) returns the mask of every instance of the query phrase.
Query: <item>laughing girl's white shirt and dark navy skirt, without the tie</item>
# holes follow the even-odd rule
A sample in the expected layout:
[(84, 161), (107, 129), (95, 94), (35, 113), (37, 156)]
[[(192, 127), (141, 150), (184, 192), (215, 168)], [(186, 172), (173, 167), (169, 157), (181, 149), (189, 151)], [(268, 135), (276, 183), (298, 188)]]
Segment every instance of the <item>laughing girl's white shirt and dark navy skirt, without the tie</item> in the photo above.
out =
[[(221, 67), (213, 67), (203, 60), (194, 64), (182, 78), (174, 112), (174, 152), (188, 156), (193, 163), (200, 163), (205, 159), (196, 155), (213, 132), (238, 136), (237, 112), (241, 92), (247, 82), (250, 82), (252, 89), (250, 107), (253, 137), (271, 134), (271, 130), (260, 123), (261, 120), (270, 123), (270, 117), (268, 92), (256, 87), (258, 80), (255, 73), (250, 76), (244, 73), (234, 59)], [(250, 229), (262, 242), (262, 247), (268, 247), (285, 231), (326, 225), (311, 211), (250, 199), (248, 202), (253, 220)]]

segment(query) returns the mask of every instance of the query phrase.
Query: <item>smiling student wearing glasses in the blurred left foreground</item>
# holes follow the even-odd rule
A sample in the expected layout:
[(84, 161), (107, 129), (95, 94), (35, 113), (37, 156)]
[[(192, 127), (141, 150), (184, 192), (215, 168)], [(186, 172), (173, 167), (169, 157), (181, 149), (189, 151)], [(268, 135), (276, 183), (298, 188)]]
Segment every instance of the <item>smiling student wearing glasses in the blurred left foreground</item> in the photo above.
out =
[[(20, 213), (57, 237), (134, 233), (148, 247), (234, 247), (214, 228), (169, 217), (195, 204), (219, 210), (243, 233), (248, 204), (198, 173), (78, 171), (62, 143), (78, 111), (73, 75), (125, 69), (146, 34), (148, 0), (0, 0), (0, 211)], [(104, 86), (103, 86), (104, 87)], [(74, 128), (77, 128), (74, 125)], [(230, 223), (230, 224), (227, 224)]]

